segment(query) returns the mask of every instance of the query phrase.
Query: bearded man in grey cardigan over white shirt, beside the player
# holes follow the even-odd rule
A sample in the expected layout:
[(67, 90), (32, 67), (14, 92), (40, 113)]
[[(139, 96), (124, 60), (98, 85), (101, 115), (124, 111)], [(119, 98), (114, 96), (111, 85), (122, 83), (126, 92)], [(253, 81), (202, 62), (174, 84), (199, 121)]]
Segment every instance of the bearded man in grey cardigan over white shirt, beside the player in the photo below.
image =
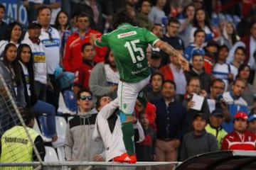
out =
[(117, 84), (119, 83), (119, 73), (114, 62), (112, 51), (105, 55), (105, 62), (97, 64), (90, 72), (89, 87), (93, 94), (93, 106), (100, 96), (110, 96), (117, 98)]

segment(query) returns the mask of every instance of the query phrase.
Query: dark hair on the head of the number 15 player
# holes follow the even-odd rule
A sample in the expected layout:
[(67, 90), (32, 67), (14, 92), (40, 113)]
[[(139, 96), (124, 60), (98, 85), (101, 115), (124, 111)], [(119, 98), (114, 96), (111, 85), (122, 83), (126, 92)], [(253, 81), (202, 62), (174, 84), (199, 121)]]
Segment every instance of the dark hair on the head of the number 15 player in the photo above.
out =
[(135, 26), (134, 18), (125, 9), (114, 14), (112, 20), (113, 29), (116, 29), (122, 23), (130, 23)]

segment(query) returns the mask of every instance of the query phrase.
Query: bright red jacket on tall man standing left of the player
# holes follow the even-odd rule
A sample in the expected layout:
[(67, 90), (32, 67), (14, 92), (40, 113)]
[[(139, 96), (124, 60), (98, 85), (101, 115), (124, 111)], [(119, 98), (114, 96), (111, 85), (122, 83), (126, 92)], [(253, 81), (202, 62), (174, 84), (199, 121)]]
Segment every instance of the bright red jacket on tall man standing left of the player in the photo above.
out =
[[(102, 36), (102, 33), (89, 28), (87, 30), (87, 33), (85, 33), (85, 37), (83, 40), (81, 40), (80, 35), (77, 32), (71, 34), (68, 37), (63, 57), (63, 67), (66, 71), (75, 72), (82, 64), (81, 47), (84, 43), (90, 43), (90, 33), (96, 34), (97, 38), (100, 38)], [(105, 53), (107, 52), (107, 47), (95, 47), (95, 51), (95, 62), (103, 62), (105, 58)]]

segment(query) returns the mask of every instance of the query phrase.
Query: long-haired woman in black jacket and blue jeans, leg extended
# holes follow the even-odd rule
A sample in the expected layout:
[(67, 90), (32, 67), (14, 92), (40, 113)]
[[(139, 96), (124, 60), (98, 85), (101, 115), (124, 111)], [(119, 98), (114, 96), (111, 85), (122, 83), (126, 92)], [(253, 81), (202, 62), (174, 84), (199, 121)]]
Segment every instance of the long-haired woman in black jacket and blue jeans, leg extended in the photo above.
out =
[[(58, 147), (61, 144), (62, 139), (58, 139), (55, 129), (55, 108), (54, 106), (40, 101), (37, 99), (35, 92), (35, 77), (33, 71), (33, 57), (31, 55), (31, 47), (27, 44), (21, 44), (18, 47), (17, 58), (18, 62), (22, 68), (22, 80), (25, 88), (25, 96), (27, 107), (32, 106), (33, 111), (36, 115), (46, 114), (47, 117), (47, 126), (50, 132), (50, 137), (52, 138), (53, 147)], [(63, 140), (64, 141), (64, 140)]]

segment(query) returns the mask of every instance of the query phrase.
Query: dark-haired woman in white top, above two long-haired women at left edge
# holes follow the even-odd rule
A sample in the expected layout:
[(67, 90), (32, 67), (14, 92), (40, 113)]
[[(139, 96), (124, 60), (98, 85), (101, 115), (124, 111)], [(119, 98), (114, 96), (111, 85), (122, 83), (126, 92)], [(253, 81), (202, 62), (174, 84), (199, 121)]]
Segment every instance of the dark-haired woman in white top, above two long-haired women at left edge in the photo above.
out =
[(4, 47), (11, 42), (16, 47), (21, 43), (21, 35), (22, 35), (22, 26), (18, 22), (9, 23), (4, 34), (4, 40), (0, 41), (0, 59), (4, 57)]

